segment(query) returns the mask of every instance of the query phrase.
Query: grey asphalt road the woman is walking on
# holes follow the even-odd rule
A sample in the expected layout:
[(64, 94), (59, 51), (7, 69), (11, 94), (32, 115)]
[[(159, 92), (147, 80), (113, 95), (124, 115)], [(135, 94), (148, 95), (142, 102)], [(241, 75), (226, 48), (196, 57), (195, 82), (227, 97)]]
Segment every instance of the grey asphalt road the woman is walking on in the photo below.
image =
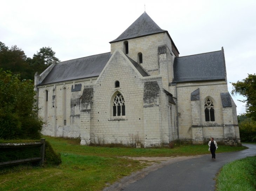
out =
[(236, 159), (256, 155), (256, 145), (246, 144), (249, 149), (230, 152), (216, 152), (216, 160), (211, 154), (177, 161), (150, 171), (134, 183), (125, 185), (123, 191), (214, 191), (213, 179), (220, 168)]

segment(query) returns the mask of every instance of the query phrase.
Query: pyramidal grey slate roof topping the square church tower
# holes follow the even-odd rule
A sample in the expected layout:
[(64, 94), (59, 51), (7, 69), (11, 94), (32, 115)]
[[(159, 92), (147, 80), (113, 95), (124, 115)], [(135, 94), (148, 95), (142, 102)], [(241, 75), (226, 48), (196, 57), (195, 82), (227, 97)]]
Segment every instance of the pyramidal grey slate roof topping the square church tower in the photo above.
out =
[(122, 41), (124, 39), (150, 35), (159, 32), (168, 32), (162, 30), (146, 12), (144, 12), (133, 24), (130, 25), (119, 37), (109, 43)]

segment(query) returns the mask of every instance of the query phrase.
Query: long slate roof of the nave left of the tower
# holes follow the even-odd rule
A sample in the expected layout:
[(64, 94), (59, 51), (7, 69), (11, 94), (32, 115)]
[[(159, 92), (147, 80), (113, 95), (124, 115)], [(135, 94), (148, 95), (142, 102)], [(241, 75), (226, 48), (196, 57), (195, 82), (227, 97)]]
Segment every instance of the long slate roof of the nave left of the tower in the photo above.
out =
[(99, 76), (110, 57), (110, 52), (107, 52), (57, 63), (39, 86)]

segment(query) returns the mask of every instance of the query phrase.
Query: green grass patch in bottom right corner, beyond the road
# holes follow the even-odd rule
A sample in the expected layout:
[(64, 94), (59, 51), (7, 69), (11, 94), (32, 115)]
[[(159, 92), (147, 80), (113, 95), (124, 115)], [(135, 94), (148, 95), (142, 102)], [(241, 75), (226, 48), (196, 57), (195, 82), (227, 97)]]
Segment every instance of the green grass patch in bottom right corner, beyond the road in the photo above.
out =
[(256, 156), (224, 165), (216, 177), (217, 191), (256, 191)]

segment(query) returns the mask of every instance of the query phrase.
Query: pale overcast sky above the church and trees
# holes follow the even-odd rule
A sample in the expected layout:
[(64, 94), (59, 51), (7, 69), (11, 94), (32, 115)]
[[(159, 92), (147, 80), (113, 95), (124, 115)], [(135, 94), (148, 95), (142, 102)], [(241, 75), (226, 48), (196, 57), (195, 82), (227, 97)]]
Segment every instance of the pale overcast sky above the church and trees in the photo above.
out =
[[(14, 1), (0, 0), (0, 41), (28, 57), (52, 47), (61, 61), (110, 52), (143, 12), (168, 30), (180, 56), (224, 47), (229, 82), (256, 73), (256, 0)], [(244, 103), (233, 96), (237, 114)]]

